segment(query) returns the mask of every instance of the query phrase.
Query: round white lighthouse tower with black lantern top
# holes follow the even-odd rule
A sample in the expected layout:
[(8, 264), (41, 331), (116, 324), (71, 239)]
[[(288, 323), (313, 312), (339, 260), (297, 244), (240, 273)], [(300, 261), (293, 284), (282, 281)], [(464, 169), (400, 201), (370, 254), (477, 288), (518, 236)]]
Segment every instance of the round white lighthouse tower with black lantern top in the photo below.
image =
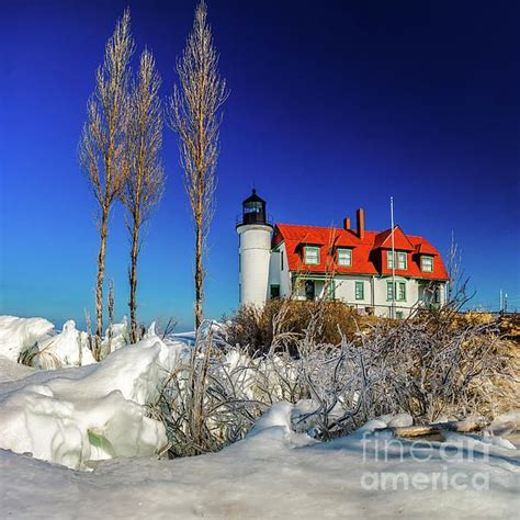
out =
[(267, 219), (265, 201), (252, 190), (251, 196), (242, 202), (242, 217), (237, 224), (240, 305), (261, 307), (265, 304), (272, 230)]

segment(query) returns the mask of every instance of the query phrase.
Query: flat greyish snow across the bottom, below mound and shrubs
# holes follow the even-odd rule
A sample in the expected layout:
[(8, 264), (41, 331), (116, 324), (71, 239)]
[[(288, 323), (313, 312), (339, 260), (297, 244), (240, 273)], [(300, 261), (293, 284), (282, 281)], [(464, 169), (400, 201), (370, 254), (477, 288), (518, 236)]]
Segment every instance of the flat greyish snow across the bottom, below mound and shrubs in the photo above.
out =
[[(291, 408), (286, 403), (274, 405), (245, 440), (196, 457), (113, 459), (100, 462), (91, 473), (78, 473), (0, 451), (0, 508), (4, 517), (15, 518), (473, 519), (517, 515), (518, 460), (511, 450), (493, 446), (485, 457), (489, 448), (474, 441), (465, 450), (473, 449), (478, 456), (446, 462), (440, 444), (431, 443), (420, 450), (419, 460), (414, 444), (393, 440), (385, 461), (374, 428), (387, 422), (371, 421), (349, 437), (318, 443), (290, 433)], [(451, 477), (457, 473), (488, 475), (489, 489), (381, 489), (374, 487), (373, 478), (399, 474), (420, 483), (434, 474)]]

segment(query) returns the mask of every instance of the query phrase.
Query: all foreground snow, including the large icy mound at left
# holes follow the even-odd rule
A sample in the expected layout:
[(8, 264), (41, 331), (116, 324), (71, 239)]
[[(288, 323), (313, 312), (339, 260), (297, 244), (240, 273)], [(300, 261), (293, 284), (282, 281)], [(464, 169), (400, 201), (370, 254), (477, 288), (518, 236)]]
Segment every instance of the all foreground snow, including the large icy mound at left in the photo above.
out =
[(53, 371), (0, 358), (0, 518), (518, 518), (518, 450), (374, 431), (408, 417), (319, 443), (291, 430), (281, 402), (219, 453), (159, 460), (165, 432), (144, 405), (184, 352), (176, 339), (150, 330), (101, 363)]

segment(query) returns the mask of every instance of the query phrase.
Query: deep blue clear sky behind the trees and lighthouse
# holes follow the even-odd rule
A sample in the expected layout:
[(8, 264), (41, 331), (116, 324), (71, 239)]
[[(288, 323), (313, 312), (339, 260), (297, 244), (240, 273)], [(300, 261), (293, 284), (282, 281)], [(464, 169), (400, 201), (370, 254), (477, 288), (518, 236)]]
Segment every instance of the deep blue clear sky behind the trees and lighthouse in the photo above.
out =
[[(194, 2), (0, 0), (0, 313), (83, 323), (98, 234), (77, 161), (94, 70), (129, 4), (172, 90)], [(365, 208), (442, 252), (454, 230), (474, 304), (520, 307), (518, 2), (210, 1), (225, 106), (206, 314), (238, 303), (235, 217), (255, 183), (275, 221), (341, 224)], [(137, 59), (137, 54), (135, 56)], [(145, 321), (192, 323), (193, 227), (174, 136), (139, 264)], [(126, 312), (127, 236), (112, 215), (108, 278)]]

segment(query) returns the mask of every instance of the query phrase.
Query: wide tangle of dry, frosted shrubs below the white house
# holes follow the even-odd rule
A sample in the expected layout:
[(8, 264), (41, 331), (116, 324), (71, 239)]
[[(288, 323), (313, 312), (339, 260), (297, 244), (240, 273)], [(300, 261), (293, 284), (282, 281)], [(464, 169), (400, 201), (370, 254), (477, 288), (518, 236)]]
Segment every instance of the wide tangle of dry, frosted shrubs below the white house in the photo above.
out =
[[(199, 335), (161, 393), (172, 456), (241, 439), (282, 399), (296, 405), (295, 430), (329, 440), (386, 414), (407, 412), (416, 423), (493, 419), (520, 397), (518, 349), (498, 320), (464, 319), (453, 307), (395, 321), (359, 319), (328, 302), (281, 301), (237, 316), (227, 340)], [(349, 336), (320, 341), (347, 317), (358, 318)]]

